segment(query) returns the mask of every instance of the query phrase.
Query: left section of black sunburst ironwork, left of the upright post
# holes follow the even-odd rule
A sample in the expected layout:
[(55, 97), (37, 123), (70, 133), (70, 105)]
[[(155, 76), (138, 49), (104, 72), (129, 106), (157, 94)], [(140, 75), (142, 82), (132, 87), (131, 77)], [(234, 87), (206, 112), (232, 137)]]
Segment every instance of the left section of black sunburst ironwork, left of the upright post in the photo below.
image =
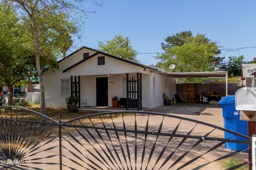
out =
[[(42, 154), (44, 151), (58, 151), (59, 142), (52, 143), (58, 122), (30, 109), (0, 107), (0, 166), (12, 169), (44, 169), (38, 165), (50, 164), (59, 167), (59, 162), (51, 162), (57, 154)], [(47, 162), (45, 162), (47, 161)]]

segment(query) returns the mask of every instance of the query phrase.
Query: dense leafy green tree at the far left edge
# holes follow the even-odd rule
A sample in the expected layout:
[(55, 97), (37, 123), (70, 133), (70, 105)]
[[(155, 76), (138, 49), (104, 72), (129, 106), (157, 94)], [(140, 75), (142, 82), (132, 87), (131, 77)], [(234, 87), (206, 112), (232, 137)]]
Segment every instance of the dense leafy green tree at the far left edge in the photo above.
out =
[(30, 54), (22, 48), (25, 40), (24, 30), (19, 28), (22, 23), (18, 22), (13, 8), (0, 7), (0, 21), (2, 23), (0, 25), (0, 82), (9, 88), (8, 105), (12, 105), (14, 84), (28, 81), (36, 72), (30, 60)]

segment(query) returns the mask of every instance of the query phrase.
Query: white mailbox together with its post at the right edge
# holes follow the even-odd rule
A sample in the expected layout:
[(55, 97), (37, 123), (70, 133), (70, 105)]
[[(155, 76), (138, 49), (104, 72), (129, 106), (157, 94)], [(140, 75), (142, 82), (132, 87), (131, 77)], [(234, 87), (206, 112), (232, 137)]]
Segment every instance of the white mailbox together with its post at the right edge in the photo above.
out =
[[(240, 111), (240, 120), (248, 121), (248, 135), (256, 142), (256, 136), (253, 137), (256, 134), (256, 88), (245, 87), (237, 90), (235, 101), (236, 110)], [(255, 143), (253, 143), (249, 150), (249, 162), (252, 162), (249, 165), (250, 170), (256, 170), (255, 149)]]

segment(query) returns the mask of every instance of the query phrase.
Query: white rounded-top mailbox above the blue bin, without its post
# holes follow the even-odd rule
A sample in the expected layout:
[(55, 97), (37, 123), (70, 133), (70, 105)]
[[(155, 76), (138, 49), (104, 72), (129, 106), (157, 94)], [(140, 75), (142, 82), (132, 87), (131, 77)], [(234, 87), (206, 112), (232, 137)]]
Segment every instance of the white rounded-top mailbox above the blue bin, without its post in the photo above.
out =
[(235, 98), (237, 111), (256, 111), (256, 88), (241, 88)]

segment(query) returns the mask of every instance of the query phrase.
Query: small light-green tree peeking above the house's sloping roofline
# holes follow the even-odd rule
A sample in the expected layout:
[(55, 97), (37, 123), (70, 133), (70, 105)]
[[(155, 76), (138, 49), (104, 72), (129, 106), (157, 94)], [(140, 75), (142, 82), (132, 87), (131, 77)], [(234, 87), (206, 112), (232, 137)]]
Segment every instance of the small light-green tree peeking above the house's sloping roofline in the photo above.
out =
[(130, 39), (123, 37), (122, 35), (115, 35), (111, 40), (99, 42), (99, 49), (102, 52), (115, 55), (121, 58), (126, 58), (132, 61), (136, 61), (137, 51), (130, 45)]

